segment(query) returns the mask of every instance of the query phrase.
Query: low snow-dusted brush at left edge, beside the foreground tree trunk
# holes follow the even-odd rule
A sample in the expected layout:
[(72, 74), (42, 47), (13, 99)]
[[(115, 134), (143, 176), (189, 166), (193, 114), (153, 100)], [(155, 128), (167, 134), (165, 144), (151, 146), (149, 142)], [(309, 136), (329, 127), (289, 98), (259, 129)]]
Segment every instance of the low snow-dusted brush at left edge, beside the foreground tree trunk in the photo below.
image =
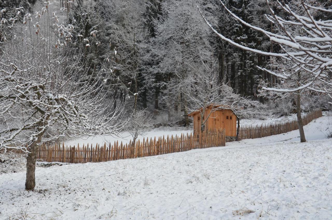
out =
[(13, 152), (0, 153), (0, 173), (22, 171), (26, 166), (26, 155)]

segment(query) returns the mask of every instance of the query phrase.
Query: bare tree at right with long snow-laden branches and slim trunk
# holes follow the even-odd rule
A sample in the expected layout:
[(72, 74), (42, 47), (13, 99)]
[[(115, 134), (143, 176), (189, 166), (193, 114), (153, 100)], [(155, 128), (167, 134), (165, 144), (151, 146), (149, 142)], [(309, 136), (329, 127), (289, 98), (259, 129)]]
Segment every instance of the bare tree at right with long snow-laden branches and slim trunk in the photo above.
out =
[[(330, 97), (332, 94), (331, 22), (329, 20), (315, 20), (312, 11), (331, 13), (332, 10), (325, 9), (323, 7), (312, 6), (307, 4), (305, 1), (301, 1), (301, 7), (304, 13), (299, 14), (298, 11), (293, 10), (291, 6), (286, 4), (284, 1), (276, 0), (280, 9), (282, 9), (283, 12), (285, 12), (288, 16), (288, 18), (282, 18), (275, 14), (269, 5), (269, 1), (266, 0), (271, 13), (271, 15), (268, 15), (267, 18), (275, 26), (279, 26), (281, 30), (280, 33), (273, 33), (271, 31), (267, 31), (246, 23), (237, 15), (232, 13), (221, 0), (219, 1), (226, 9), (226, 11), (237, 21), (239, 21), (242, 25), (245, 25), (266, 35), (271, 42), (278, 44), (284, 53), (264, 52), (237, 44), (218, 33), (201, 13), (207, 25), (222, 40), (242, 50), (261, 55), (279, 57), (280, 59), (284, 60), (285, 63), (291, 63), (291, 66), (288, 68), (285, 68), (283, 65), (278, 66), (278, 71), (261, 67), (258, 68), (276, 76), (281, 80), (293, 82), (288, 84), (291, 85), (289, 87), (281, 88), (277, 84), (272, 84), (271, 87), (263, 86), (262, 89), (278, 93), (296, 93), (297, 120), (301, 137), (300, 139), (301, 142), (305, 142), (300, 107), (301, 91), (308, 89), (314, 92), (326, 93), (330, 95)], [(294, 29), (301, 31), (296, 32)]]

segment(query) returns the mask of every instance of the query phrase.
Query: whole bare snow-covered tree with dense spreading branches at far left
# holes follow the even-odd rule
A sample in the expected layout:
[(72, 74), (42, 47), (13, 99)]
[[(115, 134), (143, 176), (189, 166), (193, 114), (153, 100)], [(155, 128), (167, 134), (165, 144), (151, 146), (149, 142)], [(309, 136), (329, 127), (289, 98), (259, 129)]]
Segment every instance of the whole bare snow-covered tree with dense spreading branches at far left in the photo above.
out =
[(83, 53), (66, 47), (73, 27), (59, 24), (47, 6), (43, 15), (36, 13), (36, 21), (25, 15), (0, 49), (0, 149), (28, 153), (28, 190), (35, 187), (36, 153), (42, 143), (117, 134), (124, 124), (123, 108), (109, 110), (107, 77), (88, 74)]

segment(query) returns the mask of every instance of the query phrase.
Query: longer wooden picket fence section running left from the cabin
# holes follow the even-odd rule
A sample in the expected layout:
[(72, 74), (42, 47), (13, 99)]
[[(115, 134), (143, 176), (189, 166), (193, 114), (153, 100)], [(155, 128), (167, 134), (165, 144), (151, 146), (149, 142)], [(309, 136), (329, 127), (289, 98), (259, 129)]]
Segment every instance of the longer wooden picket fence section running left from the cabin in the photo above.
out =
[[(102, 146), (98, 144), (92, 146), (89, 144), (83, 146), (64, 146), (62, 144), (46, 145), (38, 148), (37, 159), (45, 162), (63, 162), (63, 163), (87, 163), (87, 162), (106, 162), (128, 158), (140, 158), (176, 152), (184, 152), (192, 149), (201, 149), (217, 146), (225, 146), (225, 129), (210, 130), (204, 133), (181, 134), (150, 140), (131, 141), (126, 144), (114, 142), (113, 145), (106, 143)], [(19, 153), (20, 150), (14, 150)]]

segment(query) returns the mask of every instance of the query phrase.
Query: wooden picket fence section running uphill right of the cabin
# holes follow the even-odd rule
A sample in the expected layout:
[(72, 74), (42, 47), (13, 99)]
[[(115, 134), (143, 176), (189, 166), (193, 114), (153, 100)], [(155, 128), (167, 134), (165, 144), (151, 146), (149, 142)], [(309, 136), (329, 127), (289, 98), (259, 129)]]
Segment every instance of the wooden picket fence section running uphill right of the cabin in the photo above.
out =
[[(312, 120), (322, 117), (322, 110), (310, 112), (302, 117), (303, 125), (309, 124)], [(262, 125), (246, 125), (239, 129), (239, 140), (263, 138), (271, 135), (278, 135), (298, 129), (297, 119), (290, 119), (285, 122), (274, 122)]]

